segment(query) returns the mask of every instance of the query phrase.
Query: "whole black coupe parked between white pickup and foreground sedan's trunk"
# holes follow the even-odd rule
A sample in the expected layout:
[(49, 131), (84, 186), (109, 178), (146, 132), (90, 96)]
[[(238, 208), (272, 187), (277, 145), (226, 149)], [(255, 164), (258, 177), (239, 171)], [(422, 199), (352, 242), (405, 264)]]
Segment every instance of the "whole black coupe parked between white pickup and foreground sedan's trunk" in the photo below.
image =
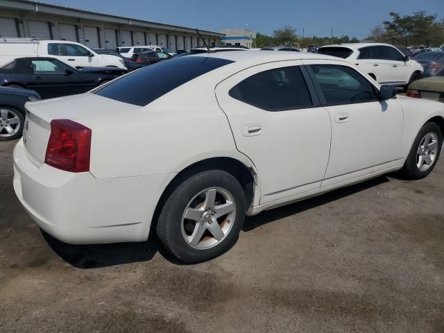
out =
[(82, 94), (124, 73), (117, 67), (76, 69), (54, 58), (17, 58), (0, 67), (0, 85), (32, 89), (51, 99)]

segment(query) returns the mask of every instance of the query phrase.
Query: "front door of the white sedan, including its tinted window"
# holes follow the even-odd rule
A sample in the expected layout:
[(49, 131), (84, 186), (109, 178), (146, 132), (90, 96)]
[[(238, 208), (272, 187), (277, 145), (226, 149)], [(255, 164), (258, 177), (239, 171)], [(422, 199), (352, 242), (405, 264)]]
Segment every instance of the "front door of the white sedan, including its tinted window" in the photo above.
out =
[(346, 62), (303, 62), (332, 125), (330, 160), (322, 186), (402, 164), (403, 112), (398, 100), (379, 101), (379, 88)]

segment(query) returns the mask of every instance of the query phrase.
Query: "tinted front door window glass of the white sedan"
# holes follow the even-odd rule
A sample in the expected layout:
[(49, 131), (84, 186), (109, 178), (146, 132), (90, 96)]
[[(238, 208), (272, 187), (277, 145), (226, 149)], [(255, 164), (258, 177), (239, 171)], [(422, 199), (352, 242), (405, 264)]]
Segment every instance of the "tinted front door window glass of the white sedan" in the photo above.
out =
[(338, 65), (310, 65), (327, 105), (363, 103), (377, 99), (375, 87), (355, 69)]

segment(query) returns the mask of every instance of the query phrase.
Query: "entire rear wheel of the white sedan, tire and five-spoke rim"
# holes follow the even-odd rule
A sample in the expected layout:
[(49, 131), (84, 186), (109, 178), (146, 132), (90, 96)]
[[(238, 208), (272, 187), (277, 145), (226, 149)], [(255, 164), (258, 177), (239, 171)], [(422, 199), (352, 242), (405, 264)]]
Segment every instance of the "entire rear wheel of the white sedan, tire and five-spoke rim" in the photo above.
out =
[(157, 221), (157, 236), (184, 262), (205, 262), (237, 241), (244, 223), (246, 198), (230, 173), (203, 171), (180, 184)]

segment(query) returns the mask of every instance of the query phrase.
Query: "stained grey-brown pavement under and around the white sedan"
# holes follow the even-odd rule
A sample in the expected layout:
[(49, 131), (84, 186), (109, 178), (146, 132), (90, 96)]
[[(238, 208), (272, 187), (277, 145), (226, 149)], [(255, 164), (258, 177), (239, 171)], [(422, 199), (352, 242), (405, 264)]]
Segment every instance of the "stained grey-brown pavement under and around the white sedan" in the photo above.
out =
[(156, 239), (71, 246), (12, 190), (0, 143), (0, 332), (444, 332), (444, 162), (247, 219), (184, 265)]

